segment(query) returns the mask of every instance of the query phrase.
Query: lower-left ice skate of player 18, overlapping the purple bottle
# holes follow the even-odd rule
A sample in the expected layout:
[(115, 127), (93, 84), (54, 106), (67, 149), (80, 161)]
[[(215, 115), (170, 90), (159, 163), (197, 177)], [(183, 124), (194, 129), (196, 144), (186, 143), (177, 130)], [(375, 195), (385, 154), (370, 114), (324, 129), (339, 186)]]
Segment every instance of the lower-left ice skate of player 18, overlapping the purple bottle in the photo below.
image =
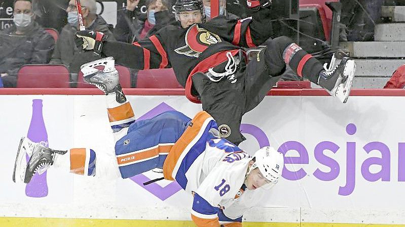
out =
[[(14, 163), (13, 181), (28, 184), (32, 176), (38, 172), (42, 174), (55, 160), (55, 154), (66, 154), (67, 151), (52, 150), (43, 143), (34, 143), (28, 138), (21, 138), (17, 157)], [(29, 161), (26, 161), (26, 155)]]

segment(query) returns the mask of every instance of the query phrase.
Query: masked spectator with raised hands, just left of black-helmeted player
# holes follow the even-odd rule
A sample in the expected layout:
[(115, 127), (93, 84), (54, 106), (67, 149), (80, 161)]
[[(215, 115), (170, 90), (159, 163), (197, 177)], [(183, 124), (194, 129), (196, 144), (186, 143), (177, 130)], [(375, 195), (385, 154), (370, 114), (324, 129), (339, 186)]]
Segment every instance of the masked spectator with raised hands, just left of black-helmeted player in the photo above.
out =
[(125, 10), (119, 11), (114, 34), (118, 41), (135, 42), (155, 34), (162, 27), (175, 23), (166, 0), (147, 0), (146, 18), (135, 11), (139, 0), (127, 0)]

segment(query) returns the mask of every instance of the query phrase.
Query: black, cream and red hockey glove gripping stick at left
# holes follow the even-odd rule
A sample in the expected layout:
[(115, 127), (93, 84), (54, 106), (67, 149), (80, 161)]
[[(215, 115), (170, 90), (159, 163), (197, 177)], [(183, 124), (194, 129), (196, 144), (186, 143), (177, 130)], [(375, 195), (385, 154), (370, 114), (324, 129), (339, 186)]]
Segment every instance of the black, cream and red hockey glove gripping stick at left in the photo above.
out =
[(76, 32), (76, 46), (83, 50), (93, 50), (94, 53), (100, 55), (103, 47), (103, 41), (107, 39), (108, 35), (99, 31), (77, 31)]

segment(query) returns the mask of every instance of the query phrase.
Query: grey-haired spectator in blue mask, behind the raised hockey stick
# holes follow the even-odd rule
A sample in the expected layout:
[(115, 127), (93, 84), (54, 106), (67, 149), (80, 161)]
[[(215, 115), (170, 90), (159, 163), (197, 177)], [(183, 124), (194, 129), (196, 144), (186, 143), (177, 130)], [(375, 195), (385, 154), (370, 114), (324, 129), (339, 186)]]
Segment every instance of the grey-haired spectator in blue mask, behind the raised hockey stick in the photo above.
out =
[[(108, 24), (105, 20), (96, 14), (97, 6), (95, 0), (81, 0), (83, 22), (86, 29), (94, 31), (101, 31), (108, 35), (108, 39), (114, 41), (114, 35), (109, 30)], [(79, 72), (80, 65), (99, 59), (100, 56), (93, 52), (83, 52), (76, 47), (74, 36), (79, 29), (79, 18), (76, 9), (75, 0), (70, 0), (66, 9), (67, 24), (62, 28), (58, 40), (56, 41), (56, 48), (52, 55), (51, 64), (63, 64), (69, 68), (72, 73), (72, 81), (77, 81), (77, 73)]]

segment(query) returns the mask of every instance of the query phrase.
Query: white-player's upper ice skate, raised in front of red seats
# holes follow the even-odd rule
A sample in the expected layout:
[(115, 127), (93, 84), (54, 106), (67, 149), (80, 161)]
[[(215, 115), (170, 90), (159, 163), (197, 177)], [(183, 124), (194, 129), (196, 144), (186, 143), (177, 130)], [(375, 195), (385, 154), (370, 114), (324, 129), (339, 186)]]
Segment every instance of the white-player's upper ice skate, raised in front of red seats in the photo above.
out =
[[(96, 67), (104, 67), (103, 70)], [(120, 85), (120, 76), (115, 68), (113, 57), (107, 57), (86, 63), (80, 67), (83, 72), (83, 80), (86, 83), (97, 86), (105, 95), (116, 93), (116, 99), (119, 103), (127, 101)]]

